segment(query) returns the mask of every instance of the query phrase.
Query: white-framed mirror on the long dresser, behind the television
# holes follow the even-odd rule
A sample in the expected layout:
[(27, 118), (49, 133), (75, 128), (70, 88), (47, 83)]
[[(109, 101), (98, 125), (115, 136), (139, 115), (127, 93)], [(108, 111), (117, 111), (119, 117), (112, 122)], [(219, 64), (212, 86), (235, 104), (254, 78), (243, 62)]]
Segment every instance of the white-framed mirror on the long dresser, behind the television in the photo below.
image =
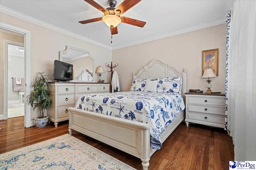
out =
[(90, 52), (66, 46), (60, 51), (60, 61), (73, 64), (73, 81), (94, 81), (94, 59)]

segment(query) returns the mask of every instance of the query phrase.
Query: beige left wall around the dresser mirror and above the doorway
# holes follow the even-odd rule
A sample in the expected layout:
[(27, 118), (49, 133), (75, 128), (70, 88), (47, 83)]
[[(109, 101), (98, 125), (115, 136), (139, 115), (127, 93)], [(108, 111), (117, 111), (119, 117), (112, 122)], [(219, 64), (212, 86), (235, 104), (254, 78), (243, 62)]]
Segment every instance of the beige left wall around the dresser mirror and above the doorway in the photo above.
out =
[[(0, 21), (31, 31), (31, 80), (36, 72), (42, 71), (50, 75), (50, 80), (53, 80), (54, 60), (59, 59), (59, 51), (64, 51), (66, 45), (91, 52), (91, 56), (95, 59), (96, 68), (112, 61), (112, 51), (103, 47), (87, 43), (2, 12), (0, 12)], [(107, 67), (105, 66), (104, 69), (107, 70)], [(102, 77), (106, 82), (110, 82), (110, 74), (103, 74)], [(95, 82), (97, 82), (97, 76), (95, 76)], [(3, 112), (0, 111), (0, 114), (3, 114)], [(32, 111), (31, 109), (31, 120), (39, 115), (39, 111)]]

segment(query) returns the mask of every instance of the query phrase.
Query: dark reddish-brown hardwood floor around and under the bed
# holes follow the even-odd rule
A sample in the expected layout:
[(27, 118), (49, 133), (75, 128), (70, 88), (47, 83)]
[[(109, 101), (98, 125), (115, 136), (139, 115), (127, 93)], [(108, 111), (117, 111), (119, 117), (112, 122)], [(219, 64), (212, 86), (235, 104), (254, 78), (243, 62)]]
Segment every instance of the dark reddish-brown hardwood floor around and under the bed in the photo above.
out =
[[(0, 154), (68, 133), (68, 121), (43, 129), (25, 128), (24, 117), (0, 121)], [(131, 156), (86, 135), (73, 131), (74, 137), (118, 160), (142, 170), (139, 158)], [(166, 139), (162, 149), (150, 158), (150, 170), (227, 170), (234, 160), (234, 145), (224, 129), (181, 123)]]

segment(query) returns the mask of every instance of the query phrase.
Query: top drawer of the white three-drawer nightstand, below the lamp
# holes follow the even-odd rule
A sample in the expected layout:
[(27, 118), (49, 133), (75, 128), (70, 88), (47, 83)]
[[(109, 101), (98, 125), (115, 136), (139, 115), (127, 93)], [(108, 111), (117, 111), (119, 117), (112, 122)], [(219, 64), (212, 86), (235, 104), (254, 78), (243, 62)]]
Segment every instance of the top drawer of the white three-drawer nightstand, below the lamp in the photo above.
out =
[(215, 105), (215, 106), (225, 106), (224, 98), (207, 98), (207, 97), (192, 97), (188, 96), (188, 103), (194, 104), (206, 104), (206, 105)]

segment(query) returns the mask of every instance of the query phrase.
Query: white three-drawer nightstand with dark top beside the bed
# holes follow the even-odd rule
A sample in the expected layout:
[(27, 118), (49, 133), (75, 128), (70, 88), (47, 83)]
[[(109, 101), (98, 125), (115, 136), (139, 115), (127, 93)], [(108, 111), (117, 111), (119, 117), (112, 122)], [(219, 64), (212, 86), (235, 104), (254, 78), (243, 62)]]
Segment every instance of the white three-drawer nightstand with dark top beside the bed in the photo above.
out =
[(185, 93), (186, 125), (198, 123), (224, 128), (225, 94)]

